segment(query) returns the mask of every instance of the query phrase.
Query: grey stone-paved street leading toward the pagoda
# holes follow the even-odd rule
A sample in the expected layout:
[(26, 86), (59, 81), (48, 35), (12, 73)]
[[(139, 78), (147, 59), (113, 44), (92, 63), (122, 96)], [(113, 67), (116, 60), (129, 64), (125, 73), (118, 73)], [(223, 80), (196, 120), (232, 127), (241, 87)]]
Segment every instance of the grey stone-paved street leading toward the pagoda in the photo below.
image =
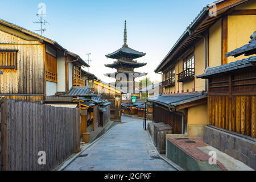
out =
[(82, 152), (88, 156), (76, 158), (65, 170), (69, 171), (174, 171), (170, 164), (158, 156), (143, 120), (122, 117), (112, 130), (93, 146)]

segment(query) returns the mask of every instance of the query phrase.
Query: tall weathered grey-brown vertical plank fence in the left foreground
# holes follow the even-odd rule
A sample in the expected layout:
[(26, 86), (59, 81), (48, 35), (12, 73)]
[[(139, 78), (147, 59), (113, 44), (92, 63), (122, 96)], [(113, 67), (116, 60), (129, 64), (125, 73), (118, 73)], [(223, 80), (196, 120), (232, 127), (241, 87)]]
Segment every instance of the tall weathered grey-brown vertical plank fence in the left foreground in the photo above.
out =
[[(1, 104), (1, 170), (48, 171), (80, 146), (77, 109), (3, 100)], [(46, 165), (39, 165), (39, 151)]]

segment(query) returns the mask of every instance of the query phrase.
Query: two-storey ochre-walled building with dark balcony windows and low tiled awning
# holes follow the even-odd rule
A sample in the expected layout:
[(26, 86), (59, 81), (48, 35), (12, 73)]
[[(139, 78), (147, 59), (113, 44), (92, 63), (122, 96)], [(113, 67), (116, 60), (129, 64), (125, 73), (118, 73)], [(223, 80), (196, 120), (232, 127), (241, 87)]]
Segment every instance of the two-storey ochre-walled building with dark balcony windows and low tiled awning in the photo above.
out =
[(155, 69), (162, 73), (163, 94), (149, 99), (153, 118), (169, 123), (174, 134), (203, 136), (208, 123), (208, 84), (195, 75), (203, 74), (208, 67), (238, 60), (225, 57), (225, 53), (241, 47), (256, 30), (255, 1), (214, 3), (216, 6), (204, 7)]

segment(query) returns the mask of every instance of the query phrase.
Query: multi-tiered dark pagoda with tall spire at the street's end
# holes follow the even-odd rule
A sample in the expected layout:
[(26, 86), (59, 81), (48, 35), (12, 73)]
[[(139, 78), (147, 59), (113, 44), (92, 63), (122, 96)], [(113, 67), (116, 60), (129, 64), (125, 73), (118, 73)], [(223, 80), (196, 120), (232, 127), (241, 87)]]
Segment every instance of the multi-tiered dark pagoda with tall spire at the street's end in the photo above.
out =
[(135, 68), (140, 68), (147, 63), (138, 63), (134, 59), (145, 56), (146, 53), (135, 51), (127, 45), (127, 29), (125, 21), (124, 44), (121, 49), (106, 55), (110, 59), (115, 59), (113, 64), (106, 64), (105, 67), (117, 69), (115, 73), (108, 73), (106, 76), (115, 78), (115, 86), (126, 93), (135, 93), (135, 78), (146, 76), (147, 73), (134, 72)]

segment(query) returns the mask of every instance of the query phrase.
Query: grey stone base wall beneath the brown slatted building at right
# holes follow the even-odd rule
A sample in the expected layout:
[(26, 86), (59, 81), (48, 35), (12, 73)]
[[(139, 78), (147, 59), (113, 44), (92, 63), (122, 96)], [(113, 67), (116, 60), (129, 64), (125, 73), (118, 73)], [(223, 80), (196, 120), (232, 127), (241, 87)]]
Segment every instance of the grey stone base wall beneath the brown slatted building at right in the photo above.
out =
[(204, 128), (204, 142), (256, 169), (256, 139), (207, 126)]

